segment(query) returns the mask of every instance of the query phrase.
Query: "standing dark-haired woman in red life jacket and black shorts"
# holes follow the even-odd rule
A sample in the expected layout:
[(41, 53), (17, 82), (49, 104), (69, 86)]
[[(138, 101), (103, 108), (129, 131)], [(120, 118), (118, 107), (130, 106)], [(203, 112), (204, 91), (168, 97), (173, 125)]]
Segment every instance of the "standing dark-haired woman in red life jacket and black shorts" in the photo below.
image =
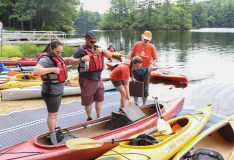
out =
[(39, 56), (34, 69), (34, 74), (40, 75), (43, 80), (41, 95), (47, 106), (47, 125), (50, 131), (58, 128), (57, 115), (67, 79), (62, 52), (63, 44), (57, 40), (52, 41)]

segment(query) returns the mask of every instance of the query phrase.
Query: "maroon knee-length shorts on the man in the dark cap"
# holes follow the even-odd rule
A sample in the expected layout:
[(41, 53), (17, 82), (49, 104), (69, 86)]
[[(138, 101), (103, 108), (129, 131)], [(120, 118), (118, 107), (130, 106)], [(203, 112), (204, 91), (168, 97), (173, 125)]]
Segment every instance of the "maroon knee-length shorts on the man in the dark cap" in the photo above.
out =
[(102, 80), (92, 80), (79, 77), (80, 90), (81, 90), (81, 104), (89, 106), (93, 102), (104, 101), (104, 85)]

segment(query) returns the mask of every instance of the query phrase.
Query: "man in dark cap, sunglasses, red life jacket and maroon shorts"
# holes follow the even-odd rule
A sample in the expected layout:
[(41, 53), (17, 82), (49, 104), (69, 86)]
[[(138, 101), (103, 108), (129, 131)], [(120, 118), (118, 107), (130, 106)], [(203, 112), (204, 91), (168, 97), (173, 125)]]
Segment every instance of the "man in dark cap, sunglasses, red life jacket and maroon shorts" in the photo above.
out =
[[(78, 65), (79, 83), (81, 88), (81, 102), (85, 106), (88, 116), (92, 120), (92, 103), (95, 102), (97, 118), (102, 116), (102, 102), (104, 101), (104, 85), (101, 79), (105, 67), (104, 57), (111, 58), (110, 51), (95, 45), (97, 35), (88, 32), (85, 35), (85, 45), (81, 45), (69, 60), (69, 64)], [(104, 57), (103, 57), (104, 56)]]

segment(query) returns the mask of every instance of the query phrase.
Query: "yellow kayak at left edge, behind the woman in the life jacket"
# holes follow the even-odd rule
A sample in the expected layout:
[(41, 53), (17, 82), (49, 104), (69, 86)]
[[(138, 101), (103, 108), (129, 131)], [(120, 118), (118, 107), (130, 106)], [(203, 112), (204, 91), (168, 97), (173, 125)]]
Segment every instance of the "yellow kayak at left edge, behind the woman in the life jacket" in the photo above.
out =
[(33, 74), (17, 74), (0, 79), (0, 90), (36, 86), (40, 84), (42, 84), (40, 76), (34, 76)]

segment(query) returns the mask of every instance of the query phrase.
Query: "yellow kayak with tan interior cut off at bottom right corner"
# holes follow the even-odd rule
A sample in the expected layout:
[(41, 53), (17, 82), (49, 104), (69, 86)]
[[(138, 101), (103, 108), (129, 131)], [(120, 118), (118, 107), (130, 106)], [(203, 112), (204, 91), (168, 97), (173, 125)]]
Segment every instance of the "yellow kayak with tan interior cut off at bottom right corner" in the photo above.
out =
[[(190, 150), (192, 148), (193, 153), (191, 154)], [(200, 151), (208, 151), (208, 153), (211, 152), (214, 153), (214, 155), (218, 155), (219, 153), (222, 155), (223, 159), (234, 159), (234, 115), (200, 133), (184, 146), (173, 160), (185, 159), (184, 156), (186, 153), (190, 152), (190, 155), (195, 155), (200, 153)], [(202, 159), (206, 158), (204, 157)]]

